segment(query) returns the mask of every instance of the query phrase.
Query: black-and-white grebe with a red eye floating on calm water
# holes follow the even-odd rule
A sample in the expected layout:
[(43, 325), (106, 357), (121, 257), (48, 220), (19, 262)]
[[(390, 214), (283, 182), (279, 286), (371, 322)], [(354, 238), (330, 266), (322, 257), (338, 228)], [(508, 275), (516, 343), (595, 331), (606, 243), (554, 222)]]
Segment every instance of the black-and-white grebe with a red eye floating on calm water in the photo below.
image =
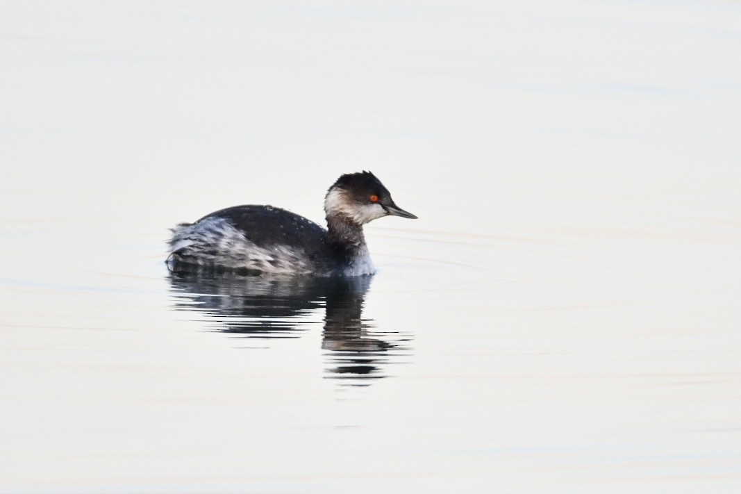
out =
[(269, 205), (240, 205), (173, 228), (171, 271), (316, 276), (374, 274), (363, 225), (384, 216), (416, 218), (393, 203), (370, 171), (339, 177), (325, 197), (327, 229)]

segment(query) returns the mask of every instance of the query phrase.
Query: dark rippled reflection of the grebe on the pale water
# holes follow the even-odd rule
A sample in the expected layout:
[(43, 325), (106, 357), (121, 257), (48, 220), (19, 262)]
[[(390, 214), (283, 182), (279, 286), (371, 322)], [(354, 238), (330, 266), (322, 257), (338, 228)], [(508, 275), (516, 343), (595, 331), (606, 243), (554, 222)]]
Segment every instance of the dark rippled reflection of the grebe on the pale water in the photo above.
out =
[(408, 337), (381, 332), (362, 318), (372, 277), (209, 276), (170, 273), (174, 306), (207, 314), (221, 332), (262, 339), (299, 337), (325, 309), (322, 349), (328, 377), (353, 386), (384, 378), (405, 355)]

